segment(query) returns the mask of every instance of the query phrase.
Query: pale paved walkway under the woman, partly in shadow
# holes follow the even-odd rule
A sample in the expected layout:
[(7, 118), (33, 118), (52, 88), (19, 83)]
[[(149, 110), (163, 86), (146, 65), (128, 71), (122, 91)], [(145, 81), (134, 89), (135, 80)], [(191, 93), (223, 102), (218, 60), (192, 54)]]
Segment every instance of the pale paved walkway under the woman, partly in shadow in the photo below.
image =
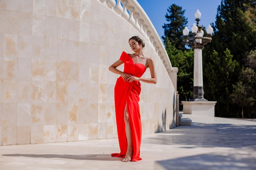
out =
[(0, 170), (256, 170), (256, 121), (183, 115), (191, 126), (144, 135), (141, 161), (121, 162), (117, 139), (0, 146)]

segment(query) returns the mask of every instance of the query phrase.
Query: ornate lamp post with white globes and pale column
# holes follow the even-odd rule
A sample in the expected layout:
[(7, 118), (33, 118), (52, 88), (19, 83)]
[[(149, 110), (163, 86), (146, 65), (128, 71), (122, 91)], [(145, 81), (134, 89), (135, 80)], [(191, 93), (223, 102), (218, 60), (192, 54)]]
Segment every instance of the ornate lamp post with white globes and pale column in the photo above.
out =
[(207, 37), (204, 37), (204, 31), (202, 25), (199, 25), (201, 13), (199, 10), (195, 13), (195, 23), (191, 27), (192, 35), (189, 36), (189, 29), (187, 26), (182, 30), (184, 35), (184, 42), (194, 49), (194, 82), (193, 82), (193, 99), (190, 101), (208, 101), (204, 99), (204, 88), (203, 88), (203, 69), (202, 69), (202, 49), (204, 45), (211, 42), (213, 28), (211, 25), (207, 28)]

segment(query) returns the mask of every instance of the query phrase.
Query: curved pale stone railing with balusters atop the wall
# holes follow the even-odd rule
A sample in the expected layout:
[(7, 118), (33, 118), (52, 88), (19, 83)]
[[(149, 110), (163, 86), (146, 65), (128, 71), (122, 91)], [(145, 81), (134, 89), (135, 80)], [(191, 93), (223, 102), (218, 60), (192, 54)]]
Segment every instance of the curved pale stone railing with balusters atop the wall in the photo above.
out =
[(155, 48), (155, 51), (161, 58), (168, 75), (171, 74), (173, 68), (155, 27), (148, 18), (146, 12), (142, 9), (137, 0), (100, 0), (106, 4), (110, 9), (121, 15), (124, 20), (129, 22), (150, 42)]

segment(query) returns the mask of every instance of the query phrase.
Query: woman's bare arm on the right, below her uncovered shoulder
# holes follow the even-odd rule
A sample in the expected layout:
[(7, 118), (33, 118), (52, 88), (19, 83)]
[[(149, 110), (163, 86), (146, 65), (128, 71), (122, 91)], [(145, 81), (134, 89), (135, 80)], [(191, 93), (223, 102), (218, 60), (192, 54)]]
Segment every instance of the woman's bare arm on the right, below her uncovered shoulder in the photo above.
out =
[(135, 76), (130, 76), (127, 79), (128, 82), (141, 81), (141, 82), (145, 82), (145, 83), (156, 84), (157, 83), (157, 74), (156, 74), (156, 71), (155, 71), (154, 60), (152, 58), (148, 58), (147, 62), (146, 62), (146, 66), (148, 66), (149, 69), (150, 69), (151, 78), (142, 78), (142, 77), (139, 78), (139, 77), (135, 77)]

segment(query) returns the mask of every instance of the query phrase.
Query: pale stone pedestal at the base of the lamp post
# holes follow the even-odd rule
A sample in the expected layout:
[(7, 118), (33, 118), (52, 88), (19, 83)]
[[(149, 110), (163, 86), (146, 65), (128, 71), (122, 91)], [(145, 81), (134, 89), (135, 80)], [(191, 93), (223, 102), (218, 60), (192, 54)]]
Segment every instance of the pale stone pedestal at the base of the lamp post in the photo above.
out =
[(215, 101), (182, 101), (183, 113), (214, 117)]

